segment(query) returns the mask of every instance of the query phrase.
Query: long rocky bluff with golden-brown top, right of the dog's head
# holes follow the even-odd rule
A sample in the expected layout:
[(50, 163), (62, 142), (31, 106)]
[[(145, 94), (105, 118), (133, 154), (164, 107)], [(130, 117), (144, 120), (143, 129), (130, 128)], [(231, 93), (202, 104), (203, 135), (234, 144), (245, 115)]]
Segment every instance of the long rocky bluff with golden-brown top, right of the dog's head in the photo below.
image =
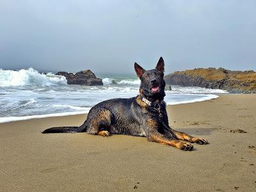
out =
[(199, 86), (227, 90), (230, 93), (256, 93), (256, 72), (225, 68), (195, 68), (164, 76), (166, 84)]

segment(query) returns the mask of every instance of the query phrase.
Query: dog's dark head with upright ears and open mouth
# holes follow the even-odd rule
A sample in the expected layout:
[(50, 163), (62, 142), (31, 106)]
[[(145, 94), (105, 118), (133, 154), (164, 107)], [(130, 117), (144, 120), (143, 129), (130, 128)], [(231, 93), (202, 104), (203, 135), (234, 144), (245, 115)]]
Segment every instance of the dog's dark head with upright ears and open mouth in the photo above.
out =
[(164, 60), (161, 57), (152, 70), (145, 70), (137, 63), (134, 68), (138, 77), (140, 77), (140, 94), (150, 100), (163, 100), (164, 98)]

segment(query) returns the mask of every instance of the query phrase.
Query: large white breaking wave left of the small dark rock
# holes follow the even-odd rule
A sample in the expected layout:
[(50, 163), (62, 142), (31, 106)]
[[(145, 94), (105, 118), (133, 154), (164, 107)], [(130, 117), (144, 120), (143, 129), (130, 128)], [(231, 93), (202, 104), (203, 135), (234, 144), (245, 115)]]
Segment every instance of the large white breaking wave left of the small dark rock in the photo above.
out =
[(26, 86), (32, 84), (61, 85), (67, 84), (67, 80), (63, 76), (56, 76), (52, 73), (40, 74), (33, 68), (17, 71), (0, 69), (0, 86)]

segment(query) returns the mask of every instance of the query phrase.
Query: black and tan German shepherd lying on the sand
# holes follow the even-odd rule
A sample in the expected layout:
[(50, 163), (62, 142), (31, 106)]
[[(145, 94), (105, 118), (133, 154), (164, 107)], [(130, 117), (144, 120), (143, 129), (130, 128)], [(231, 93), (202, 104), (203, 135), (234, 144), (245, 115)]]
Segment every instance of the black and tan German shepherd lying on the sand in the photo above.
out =
[(171, 145), (181, 150), (192, 150), (193, 145), (190, 143), (207, 144), (208, 141), (203, 138), (189, 136), (169, 126), (164, 102), (163, 58), (159, 59), (156, 68), (152, 70), (144, 70), (137, 63), (134, 63), (134, 68), (141, 80), (140, 95), (130, 99), (105, 100), (90, 109), (83, 125), (52, 127), (42, 133), (87, 132), (100, 136), (127, 134), (143, 136), (148, 141)]

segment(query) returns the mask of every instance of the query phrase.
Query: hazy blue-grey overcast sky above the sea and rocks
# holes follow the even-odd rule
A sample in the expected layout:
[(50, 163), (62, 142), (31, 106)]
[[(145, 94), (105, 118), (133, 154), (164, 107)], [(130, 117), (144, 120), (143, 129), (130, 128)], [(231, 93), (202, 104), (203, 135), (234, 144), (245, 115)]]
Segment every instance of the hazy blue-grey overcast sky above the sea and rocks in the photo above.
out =
[(0, 1), (0, 68), (256, 70), (256, 1)]

